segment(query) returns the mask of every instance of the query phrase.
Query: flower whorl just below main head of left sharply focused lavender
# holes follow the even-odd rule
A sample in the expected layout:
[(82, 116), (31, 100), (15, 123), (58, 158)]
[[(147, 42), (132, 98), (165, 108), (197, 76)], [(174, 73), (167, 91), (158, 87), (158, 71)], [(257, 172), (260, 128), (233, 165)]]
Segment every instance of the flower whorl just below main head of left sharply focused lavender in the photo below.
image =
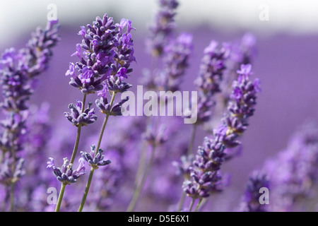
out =
[(77, 101), (76, 106), (69, 104), (69, 109), (71, 113), (64, 112), (66, 119), (71, 121), (74, 126), (87, 126), (88, 124), (93, 124), (97, 120), (94, 109), (90, 109), (92, 103), (88, 103), (88, 107), (84, 109), (81, 113), (83, 102)]

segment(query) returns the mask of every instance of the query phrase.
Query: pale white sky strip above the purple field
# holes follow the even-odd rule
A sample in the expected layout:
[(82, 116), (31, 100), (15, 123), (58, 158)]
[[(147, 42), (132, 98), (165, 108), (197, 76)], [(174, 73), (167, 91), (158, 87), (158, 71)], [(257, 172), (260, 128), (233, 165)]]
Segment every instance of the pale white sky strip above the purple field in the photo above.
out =
[[(178, 25), (211, 25), (223, 30), (249, 30), (264, 35), (291, 32), (318, 34), (317, 0), (179, 0)], [(0, 46), (14, 42), (20, 34), (46, 23), (47, 6), (56, 4), (61, 25), (117, 12), (136, 27), (146, 28), (156, 8), (156, 0), (0, 0)], [(269, 6), (269, 21), (261, 21), (261, 4)], [(82, 24), (81, 24), (82, 25)], [(140, 30), (140, 29), (139, 29)]]

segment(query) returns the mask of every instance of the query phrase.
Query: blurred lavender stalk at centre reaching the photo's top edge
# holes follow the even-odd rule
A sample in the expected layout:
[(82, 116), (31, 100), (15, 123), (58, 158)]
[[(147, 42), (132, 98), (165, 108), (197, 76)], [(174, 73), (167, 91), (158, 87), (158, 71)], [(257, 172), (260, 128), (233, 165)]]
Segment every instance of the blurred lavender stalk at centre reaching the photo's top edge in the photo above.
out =
[[(173, 28), (175, 27), (175, 10), (178, 5), (179, 3), (175, 0), (159, 1), (159, 11), (156, 15), (155, 23), (151, 25), (150, 37), (146, 41), (148, 49), (151, 49), (152, 61), (155, 61), (151, 69), (148, 69), (147, 73), (144, 74), (142, 81), (148, 90), (156, 92), (160, 90), (172, 92), (180, 90), (182, 77), (189, 67), (189, 59), (193, 52), (193, 36), (183, 32), (174, 37), (173, 32)], [(157, 68), (159, 59), (162, 60), (163, 69)], [(170, 101), (173, 100), (167, 100), (167, 102)], [(166, 127), (160, 122), (160, 119), (153, 119), (148, 123), (148, 130), (145, 132), (144, 138), (146, 143), (148, 143), (151, 154), (148, 157), (148, 162), (145, 163), (146, 145), (144, 145), (144, 148), (141, 150), (139, 169), (137, 169), (136, 173), (134, 194), (127, 211), (134, 210), (150, 172), (151, 165), (153, 165), (155, 151), (167, 140), (163, 136), (163, 133), (165, 133), (163, 128)]]

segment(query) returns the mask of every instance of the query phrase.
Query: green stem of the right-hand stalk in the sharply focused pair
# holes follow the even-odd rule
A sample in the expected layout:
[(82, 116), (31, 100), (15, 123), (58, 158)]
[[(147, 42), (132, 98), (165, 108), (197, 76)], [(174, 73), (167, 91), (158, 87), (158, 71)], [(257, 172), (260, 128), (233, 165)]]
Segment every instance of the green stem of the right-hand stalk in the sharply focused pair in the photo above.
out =
[[(116, 93), (113, 92), (112, 93), (112, 100), (110, 100), (110, 109), (112, 109), (112, 105), (114, 104), (115, 95), (116, 95)], [(109, 117), (110, 117), (110, 114), (106, 114), (106, 117), (105, 117), (105, 119), (104, 119), (104, 121), (102, 123), (102, 129), (100, 129), (100, 136), (98, 137), (98, 144), (96, 146), (95, 155), (98, 153), (98, 150), (100, 149), (100, 143), (102, 142), (102, 135), (104, 134), (105, 127), (106, 127), (106, 124), (107, 124), (107, 121), (108, 121)], [(78, 208), (78, 212), (82, 212), (83, 207), (85, 205), (86, 198), (88, 196), (88, 191), (90, 189), (90, 182), (92, 182), (92, 179), (93, 179), (94, 170), (95, 169), (93, 169), (93, 167), (90, 167), (90, 175), (88, 177), (88, 182), (86, 184), (86, 188), (85, 188), (85, 191), (84, 191), (84, 194), (83, 194), (81, 205)]]

